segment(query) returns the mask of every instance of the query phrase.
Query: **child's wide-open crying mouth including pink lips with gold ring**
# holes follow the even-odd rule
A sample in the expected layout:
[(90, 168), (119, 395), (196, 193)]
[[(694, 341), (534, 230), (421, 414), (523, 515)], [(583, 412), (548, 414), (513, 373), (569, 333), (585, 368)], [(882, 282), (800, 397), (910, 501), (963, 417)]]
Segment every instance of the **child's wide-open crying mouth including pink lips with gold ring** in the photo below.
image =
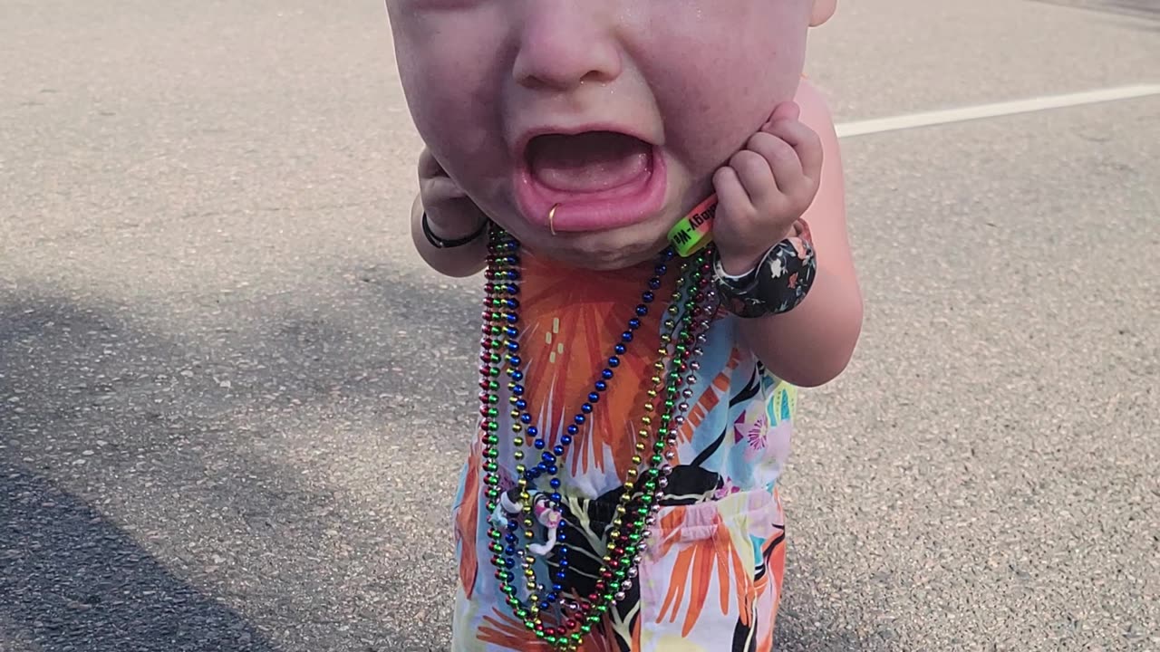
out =
[(516, 201), (534, 224), (607, 230), (647, 219), (664, 204), (664, 159), (654, 145), (629, 133), (542, 133), (527, 142), (521, 159)]

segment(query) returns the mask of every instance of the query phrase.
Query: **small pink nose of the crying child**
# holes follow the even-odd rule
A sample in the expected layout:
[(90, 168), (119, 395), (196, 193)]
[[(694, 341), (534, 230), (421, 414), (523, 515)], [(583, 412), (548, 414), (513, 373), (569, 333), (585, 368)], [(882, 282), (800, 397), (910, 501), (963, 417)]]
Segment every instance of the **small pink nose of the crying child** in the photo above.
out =
[(590, 0), (536, 0), (520, 35), (514, 75), (528, 88), (568, 90), (621, 75), (615, 20)]

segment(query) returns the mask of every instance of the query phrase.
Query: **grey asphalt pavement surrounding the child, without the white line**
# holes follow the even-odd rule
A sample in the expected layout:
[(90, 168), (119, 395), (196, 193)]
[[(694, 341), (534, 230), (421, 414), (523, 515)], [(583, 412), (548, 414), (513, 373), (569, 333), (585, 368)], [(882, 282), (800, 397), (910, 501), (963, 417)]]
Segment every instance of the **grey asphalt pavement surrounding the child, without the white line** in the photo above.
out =
[[(1158, 3), (842, 2), (840, 121), (1160, 81)], [(0, 1), (0, 651), (445, 650), (479, 280), (382, 3)], [(1160, 650), (1160, 97), (849, 139), (778, 649)]]

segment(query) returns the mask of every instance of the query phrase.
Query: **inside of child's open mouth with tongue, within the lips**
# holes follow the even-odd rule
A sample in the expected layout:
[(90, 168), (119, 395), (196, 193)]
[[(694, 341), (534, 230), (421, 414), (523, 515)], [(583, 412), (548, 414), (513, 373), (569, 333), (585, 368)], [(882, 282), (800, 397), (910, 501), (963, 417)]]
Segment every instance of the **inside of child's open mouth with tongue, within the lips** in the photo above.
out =
[(648, 171), (651, 147), (631, 136), (594, 131), (539, 136), (528, 146), (531, 175), (570, 193), (597, 193), (624, 186)]

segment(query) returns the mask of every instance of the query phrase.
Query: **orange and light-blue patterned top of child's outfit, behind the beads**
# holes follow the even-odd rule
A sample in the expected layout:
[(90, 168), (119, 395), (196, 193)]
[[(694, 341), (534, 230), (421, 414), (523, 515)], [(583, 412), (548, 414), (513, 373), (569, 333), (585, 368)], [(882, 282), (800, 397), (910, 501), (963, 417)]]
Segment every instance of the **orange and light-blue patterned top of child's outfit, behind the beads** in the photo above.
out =
[[(670, 263), (662, 285), (647, 304), (648, 312), (633, 332), (625, 353), (616, 355), (629, 320), (648, 291), (653, 263), (615, 271), (592, 271), (550, 266), (524, 252), (520, 281), (520, 355), (527, 412), (551, 450), (575, 415), (589, 401), (595, 381), (612, 371), (600, 400), (557, 462), (560, 493), (597, 499), (619, 487), (636, 466), (636, 433), (650, 415), (647, 390), (660, 360), (665, 311), (676, 287), (679, 261)], [(789, 455), (797, 392), (774, 377), (737, 341), (737, 318), (719, 313), (701, 342), (703, 353), (684, 422), (679, 427), (675, 457), (669, 463), (683, 472), (669, 493), (690, 499), (773, 487)], [(609, 364), (616, 355), (617, 365)], [(501, 383), (500, 481), (513, 485), (515, 469), (510, 443), (509, 393)], [(687, 392), (689, 393), (689, 392)], [(654, 416), (653, 416), (654, 418)], [(684, 486), (680, 486), (683, 484)]]

